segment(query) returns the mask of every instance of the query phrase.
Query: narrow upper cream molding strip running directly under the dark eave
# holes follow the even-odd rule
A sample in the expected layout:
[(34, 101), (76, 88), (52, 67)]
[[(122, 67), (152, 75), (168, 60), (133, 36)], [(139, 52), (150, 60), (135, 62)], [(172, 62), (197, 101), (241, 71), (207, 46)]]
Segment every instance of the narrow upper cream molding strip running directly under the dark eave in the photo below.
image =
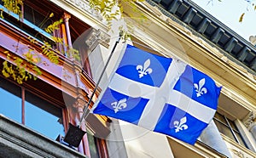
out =
[[(191, 31), (191, 29), (188, 29), (188, 27), (180, 25), (182, 21), (173, 20), (172, 18), (174, 17), (172, 18), (167, 17), (165, 14), (161, 13), (159, 8), (153, 7), (147, 2), (140, 3), (140, 4), (142, 4), (142, 5), (139, 5), (139, 6), (142, 6), (141, 9), (146, 10), (143, 12), (143, 14), (147, 14), (148, 20), (156, 21), (157, 23), (159, 23), (159, 26), (161, 26), (163, 29), (167, 28), (167, 29), (170, 29), (171, 31), (174, 31), (173, 33), (177, 35), (178, 39), (187, 38), (186, 41), (192, 40), (193, 42), (196, 42), (196, 44), (200, 45), (198, 47), (207, 49), (207, 51), (209, 51), (211, 54), (214, 54), (215, 55), (214, 58), (223, 60), (225, 63), (224, 65), (228, 64), (230, 66), (236, 66), (236, 69), (235, 69), (236, 73), (241, 74), (240, 77), (244, 76), (242, 80), (245, 80), (248, 78), (248, 80), (252, 81), (254, 84), (256, 83), (256, 76), (248, 72), (241, 65), (238, 65), (237, 63), (235, 63), (233, 60), (227, 59), (227, 57), (224, 57), (227, 54), (224, 54), (223, 52), (221, 52), (217, 47), (210, 45), (208, 42), (206, 42), (207, 39), (205, 39), (204, 37), (201, 37), (201, 35), (197, 34), (195, 31)], [(233, 68), (233, 71), (234, 71), (234, 68)], [(248, 80), (246, 82), (249, 82)], [(254, 88), (256, 89), (256, 86)]]

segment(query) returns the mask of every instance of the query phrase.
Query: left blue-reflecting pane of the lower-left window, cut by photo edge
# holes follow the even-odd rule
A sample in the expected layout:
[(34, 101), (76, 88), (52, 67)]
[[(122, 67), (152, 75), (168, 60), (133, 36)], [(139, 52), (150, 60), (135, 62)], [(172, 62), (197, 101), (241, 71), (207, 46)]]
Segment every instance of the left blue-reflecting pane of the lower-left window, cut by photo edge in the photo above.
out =
[(21, 123), (21, 89), (0, 78), (0, 114)]

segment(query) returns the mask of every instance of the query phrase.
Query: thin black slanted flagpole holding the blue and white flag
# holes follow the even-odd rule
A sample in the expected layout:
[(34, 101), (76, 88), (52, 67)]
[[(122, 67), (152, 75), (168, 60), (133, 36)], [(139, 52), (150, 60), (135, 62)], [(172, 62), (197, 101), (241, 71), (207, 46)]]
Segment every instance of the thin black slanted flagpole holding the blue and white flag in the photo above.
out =
[[(99, 84), (100, 84), (100, 82), (101, 82), (101, 80), (102, 80), (102, 76), (104, 75), (104, 72), (105, 72), (106, 69), (107, 69), (108, 63), (109, 63), (110, 59), (112, 58), (113, 51), (114, 51), (114, 49), (116, 48), (117, 44), (118, 44), (119, 41), (120, 41), (120, 37), (121, 37), (121, 34), (119, 35), (119, 38), (117, 39), (117, 41), (114, 43), (113, 48), (112, 48), (112, 51), (111, 51), (111, 53), (110, 53), (110, 55), (109, 55), (109, 57), (108, 57), (107, 63), (106, 63), (106, 65), (104, 65), (104, 68), (103, 68), (103, 70), (102, 70), (102, 74), (101, 74), (101, 76), (99, 77), (99, 80), (96, 82), (96, 87), (93, 89), (93, 92), (92, 92), (91, 95), (90, 95), (90, 99), (89, 99), (88, 103), (86, 104), (86, 106), (84, 107), (83, 115), (82, 115), (81, 118), (80, 118), (78, 127), (80, 127), (80, 125), (81, 125), (81, 123), (82, 123), (82, 121), (83, 121), (83, 119), (84, 119), (84, 116), (85, 116), (85, 114), (86, 114), (86, 111), (89, 109), (89, 105), (90, 105), (90, 103), (91, 103), (91, 101), (92, 101), (92, 99), (93, 99), (93, 97), (94, 97), (94, 94), (96, 93), (96, 89), (98, 88), (98, 86), (99, 86)], [(88, 115), (87, 115), (87, 116), (88, 116)]]

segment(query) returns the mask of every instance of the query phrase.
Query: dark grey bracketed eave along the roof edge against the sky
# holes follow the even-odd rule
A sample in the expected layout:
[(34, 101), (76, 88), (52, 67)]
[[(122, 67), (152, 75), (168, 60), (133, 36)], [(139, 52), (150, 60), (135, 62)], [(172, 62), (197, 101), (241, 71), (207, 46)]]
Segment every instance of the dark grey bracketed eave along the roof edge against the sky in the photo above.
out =
[(256, 75), (256, 48), (190, 0), (146, 0)]

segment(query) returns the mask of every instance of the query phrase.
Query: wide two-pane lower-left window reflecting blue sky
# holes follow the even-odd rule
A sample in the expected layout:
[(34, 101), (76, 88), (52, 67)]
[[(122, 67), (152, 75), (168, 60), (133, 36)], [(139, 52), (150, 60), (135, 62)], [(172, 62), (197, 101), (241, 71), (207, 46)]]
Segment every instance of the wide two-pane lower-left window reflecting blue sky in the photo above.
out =
[[(24, 97), (23, 97), (24, 96)], [(60, 108), (0, 77), (0, 113), (55, 139), (64, 135)]]

